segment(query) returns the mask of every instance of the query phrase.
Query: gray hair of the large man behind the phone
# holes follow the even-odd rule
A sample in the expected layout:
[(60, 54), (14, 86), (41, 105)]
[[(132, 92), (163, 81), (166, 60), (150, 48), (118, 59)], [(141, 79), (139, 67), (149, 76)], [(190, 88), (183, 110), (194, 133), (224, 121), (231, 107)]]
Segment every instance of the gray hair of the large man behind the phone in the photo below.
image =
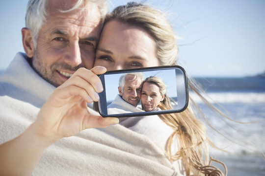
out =
[[(107, 0), (77, 0), (75, 5), (71, 9), (61, 12), (64, 13), (64, 12), (73, 11), (79, 8), (80, 5), (84, 4), (84, 1), (90, 1), (97, 4), (101, 13), (102, 25), (103, 25), (106, 14), (108, 13)], [(34, 47), (37, 46), (36, 44), (38, 40), (39, 31), (42, 25), (46, 22), (48, 17), (47, 4), (48, 0), (28, 0), (27, 3), (27, 13), (25, 21), (26, 21), (26, 27), (30, 29), (30, 31), (32, 32)]]

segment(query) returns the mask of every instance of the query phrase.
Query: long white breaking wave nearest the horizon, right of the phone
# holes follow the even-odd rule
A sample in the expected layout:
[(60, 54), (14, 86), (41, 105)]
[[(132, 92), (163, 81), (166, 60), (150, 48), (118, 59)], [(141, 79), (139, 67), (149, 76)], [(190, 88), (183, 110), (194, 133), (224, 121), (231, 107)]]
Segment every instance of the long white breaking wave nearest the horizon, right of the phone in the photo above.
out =
[[(194, 92), (189, 92), (196, 103), (203, 103)], [(211, 103), (265, 103), (265, 92), (210, 92), (206, 99)]]

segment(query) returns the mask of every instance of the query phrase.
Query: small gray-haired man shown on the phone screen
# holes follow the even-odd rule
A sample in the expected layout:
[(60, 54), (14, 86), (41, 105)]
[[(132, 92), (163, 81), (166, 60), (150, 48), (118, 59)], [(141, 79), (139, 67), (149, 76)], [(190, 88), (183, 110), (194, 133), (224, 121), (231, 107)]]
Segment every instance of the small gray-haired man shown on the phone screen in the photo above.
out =
[(137, 105), (141, 99), (142, 73), (123, 74), (119, 79), (119, 94), (107, 106), (108, 114), (142, 112)]

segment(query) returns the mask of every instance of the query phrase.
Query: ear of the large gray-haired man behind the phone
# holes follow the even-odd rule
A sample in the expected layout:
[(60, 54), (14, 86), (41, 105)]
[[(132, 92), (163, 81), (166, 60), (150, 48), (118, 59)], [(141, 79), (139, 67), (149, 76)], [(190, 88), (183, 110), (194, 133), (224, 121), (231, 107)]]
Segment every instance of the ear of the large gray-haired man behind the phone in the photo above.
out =
[(32, 58), (34, 54), (34, 43), (33, 43), (32, 33), (28, 28), (23, 27), (21, 29), (21, 34), (22, 34), (23, 47), (27, 54), (27, 57)]

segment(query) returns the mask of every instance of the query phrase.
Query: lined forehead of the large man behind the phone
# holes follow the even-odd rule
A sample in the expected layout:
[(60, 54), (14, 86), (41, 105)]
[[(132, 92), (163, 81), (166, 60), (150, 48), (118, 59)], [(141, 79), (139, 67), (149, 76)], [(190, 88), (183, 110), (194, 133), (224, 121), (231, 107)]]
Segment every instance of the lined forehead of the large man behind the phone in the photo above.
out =
[[(89, 4), (88, 4), (89, 3)], [(101, 15), (96, 3), (87, 2), (86, 8), (81, 5), (75, 10), (69, 10), (75, 4), (75, 0), (50, 0), (48, 7), (48, 18), (45, 25), (49, 26), (47, 32), (61, 34), (76, 34), (81, 38), (91, 35), (98, 41), (101, 28)], [(60, 11), (61, 10), (61, 11)]]

